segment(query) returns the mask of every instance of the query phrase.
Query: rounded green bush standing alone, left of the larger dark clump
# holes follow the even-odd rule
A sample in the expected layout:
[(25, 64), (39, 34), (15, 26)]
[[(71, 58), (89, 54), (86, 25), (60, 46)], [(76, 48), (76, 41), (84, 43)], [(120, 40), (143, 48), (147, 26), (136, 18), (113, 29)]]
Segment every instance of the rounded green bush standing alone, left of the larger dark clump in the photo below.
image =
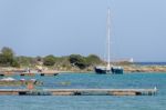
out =
[(50, 54), (50, 56), (46, 56), (45, 58), (43, 58), (44, 66), (54, 66), (54, 63), (55, 63), (54, 56)]

